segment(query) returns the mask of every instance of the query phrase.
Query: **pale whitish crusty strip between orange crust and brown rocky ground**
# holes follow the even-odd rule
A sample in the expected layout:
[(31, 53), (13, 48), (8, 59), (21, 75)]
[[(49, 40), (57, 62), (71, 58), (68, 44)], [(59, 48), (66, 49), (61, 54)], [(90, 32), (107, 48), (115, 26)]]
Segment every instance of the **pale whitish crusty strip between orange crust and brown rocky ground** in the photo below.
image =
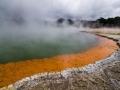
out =
[[(105, 37), (105, 38), (107, 38), (107, 37)], [(118, 40), (116, 40), (115, 42), (118, 43)], [(75, 74), (75, 75), (79, 75), (80, 74), (81, 75), (81, 74), (91, 74), (93, 72), (99, 72), (99, 69), (103, 68), (104, 65), (107, 66), (108, 63), (117, 61), (117, 60), (113, 60), (112, 58), (115, 58), (114, 56), (116, 56), (116, 54), (118, 52), (120, 52), (119, 49), (118, 49), (118, 51), (115, 51), (115, 53), (113, 53), (107, 59), (96, 61), (95, 64), (88, 64), (88, 65), (85, 65), (84, 67), (69, 68), (69, 69), (63, 70), (62, 72), (57, 72), (57, 73), (56, 72), (53, 72), (53, 73), (39, 73), (37, 75), (33, 75), (31, 77), (27, 77), (25, 79), (17, 81), (15, 84), (9, 85), (8, 88), (14, 88), (14, 89), (18, 89), (19, 88), (20, 89), (22, 87), (22, 89), (20, 89), (20, 90), (26, 90), (25, 88), (28, 88), (28, 87), (32, 88), (32, 87), (37, 86), (37, 82), (36, 81), (38, 81), (38, 84), (39, 84), (40, 81), (42, 82), (41, 78), (44, 78), (45, 81), (47, 81), (47, 79), (50, 80), (49, 77), (51, 77), (53, 79), (54, 78), (58, 78), (58, 80), (59, 80), (59, 78), (63, 78), (63, 79), (66, 80), (69, 77), (73, 76), (73, 74)], [(6, 90), (6, 89), (3, 88), (3, 89), (0, 89), (0, 90)]]

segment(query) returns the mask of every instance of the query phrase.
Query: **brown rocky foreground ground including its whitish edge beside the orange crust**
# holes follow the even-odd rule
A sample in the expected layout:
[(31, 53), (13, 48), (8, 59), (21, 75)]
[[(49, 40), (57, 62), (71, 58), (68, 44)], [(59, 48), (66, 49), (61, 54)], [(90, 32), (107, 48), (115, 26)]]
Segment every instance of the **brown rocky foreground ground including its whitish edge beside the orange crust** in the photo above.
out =
[[(119, 40), (115, 40), (120, 44)], [(120, 49), (95, 64), (40, 73), (0, 90), (120, 90)]]

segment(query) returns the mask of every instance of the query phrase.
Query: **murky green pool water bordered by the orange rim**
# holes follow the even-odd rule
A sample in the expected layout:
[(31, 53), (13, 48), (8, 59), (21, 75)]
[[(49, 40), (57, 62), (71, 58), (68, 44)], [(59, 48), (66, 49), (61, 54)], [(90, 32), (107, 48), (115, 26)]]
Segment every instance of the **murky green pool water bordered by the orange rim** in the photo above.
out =
[(0, 38), (0, 63), (83, 52), (98, 42), (96, 36), (80, 32), (56, 37), (25, 36), (9, 34)]

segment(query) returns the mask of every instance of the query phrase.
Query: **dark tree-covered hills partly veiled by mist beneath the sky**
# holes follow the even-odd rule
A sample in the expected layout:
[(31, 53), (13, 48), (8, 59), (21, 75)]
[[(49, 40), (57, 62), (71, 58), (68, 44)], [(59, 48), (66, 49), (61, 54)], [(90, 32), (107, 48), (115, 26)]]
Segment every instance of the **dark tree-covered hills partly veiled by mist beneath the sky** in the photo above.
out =
[(59, 18), (57, 24), (67, 23), (72, 26), (83, 26), (83, 27), (91, 27), (91, 28), (100, 28), (100, 27), (120, 27), (120, 17), (111, 17), (111, 18), (99, 18), (96, 20), (74, 20), (71, 18)]

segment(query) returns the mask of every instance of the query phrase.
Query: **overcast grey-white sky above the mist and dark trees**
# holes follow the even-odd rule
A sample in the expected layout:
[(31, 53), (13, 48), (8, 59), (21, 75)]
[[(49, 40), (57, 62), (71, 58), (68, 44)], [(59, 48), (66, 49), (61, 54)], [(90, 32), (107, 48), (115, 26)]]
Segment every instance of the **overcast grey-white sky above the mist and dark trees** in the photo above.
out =
[(0, 19), (9, 19), (14, 14), (28, 20), (114, 17), (120, 16), (120, 0), (0, 0)]

